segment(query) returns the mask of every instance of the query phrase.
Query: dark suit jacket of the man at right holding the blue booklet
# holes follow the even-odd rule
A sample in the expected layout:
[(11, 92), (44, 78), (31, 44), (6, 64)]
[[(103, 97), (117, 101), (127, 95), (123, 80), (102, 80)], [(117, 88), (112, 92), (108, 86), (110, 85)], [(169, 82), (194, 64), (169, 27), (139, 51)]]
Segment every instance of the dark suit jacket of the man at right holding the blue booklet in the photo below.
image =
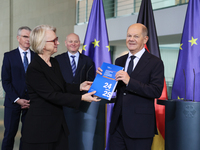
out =
[[(115, 64), (125, 67), (127, 55)], [(164, 84), (161, 59), (145, 51), (130, 75), (129, 84), (117, 85), (117, 99), (113, 109), (110, 133), (114, 133), (120, 113), (126, 134), (131, 138), (153, 137), (156, 130), (154, 99), (159, 98)]]

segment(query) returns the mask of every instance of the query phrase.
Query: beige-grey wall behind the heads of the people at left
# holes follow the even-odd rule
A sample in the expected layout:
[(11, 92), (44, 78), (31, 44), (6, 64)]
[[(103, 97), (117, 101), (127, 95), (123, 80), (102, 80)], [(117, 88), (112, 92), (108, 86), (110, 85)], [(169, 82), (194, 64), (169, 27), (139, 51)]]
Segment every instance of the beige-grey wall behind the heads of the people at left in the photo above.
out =
[(55, 26), (60, 42), (58, 53), (62, 53), (66, 51), (65, 37), (74, 32), (76, 23), (75, 0), (1, 0), (0, 12), (0, 66), (3, 53), (18, 46), (16, 35), (20, 26), (32, 29), (40, 24)]

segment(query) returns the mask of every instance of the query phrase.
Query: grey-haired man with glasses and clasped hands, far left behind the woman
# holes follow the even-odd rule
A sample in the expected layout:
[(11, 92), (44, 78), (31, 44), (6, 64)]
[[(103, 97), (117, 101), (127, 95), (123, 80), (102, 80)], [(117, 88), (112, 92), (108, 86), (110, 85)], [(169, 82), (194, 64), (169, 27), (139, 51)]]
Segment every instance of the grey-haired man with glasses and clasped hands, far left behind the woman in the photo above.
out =
[(19, 47), (4, 54), (1, 78), (6, 95), (4, 101), (5, 131), (2, 150), (13, 149), (20, 117), (23, 128), (24, 118), (30, 105), (25, 84), (25, 72), (34, 56), (34, 53), (29, 49), (30, 32), (29, 27), (20, 27), (17, 32)]

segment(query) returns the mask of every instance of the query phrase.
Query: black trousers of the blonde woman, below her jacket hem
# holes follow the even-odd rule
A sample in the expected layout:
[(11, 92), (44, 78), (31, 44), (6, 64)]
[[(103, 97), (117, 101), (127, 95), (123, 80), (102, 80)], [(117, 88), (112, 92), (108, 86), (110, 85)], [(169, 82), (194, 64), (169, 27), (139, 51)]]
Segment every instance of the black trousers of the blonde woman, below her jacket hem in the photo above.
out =
[(60, 132), (58, 141), (52, 143), (26, 143), (22, 142), (22, 150), (68, 150), (68, 137), (64, 130)]

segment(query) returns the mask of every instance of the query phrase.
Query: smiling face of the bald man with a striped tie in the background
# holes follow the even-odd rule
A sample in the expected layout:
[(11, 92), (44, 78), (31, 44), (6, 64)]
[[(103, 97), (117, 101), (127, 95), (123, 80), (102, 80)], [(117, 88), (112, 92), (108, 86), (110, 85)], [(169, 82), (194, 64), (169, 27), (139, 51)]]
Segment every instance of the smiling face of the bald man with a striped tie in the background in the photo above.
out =
[(78, 35), (71, 33), (66, 37), (65, 40), (65, 46), (67, 47), (67, 50), (71, 54), (75, 54), (78, 52), (78, 49), (80, 47), (80, 40)]

